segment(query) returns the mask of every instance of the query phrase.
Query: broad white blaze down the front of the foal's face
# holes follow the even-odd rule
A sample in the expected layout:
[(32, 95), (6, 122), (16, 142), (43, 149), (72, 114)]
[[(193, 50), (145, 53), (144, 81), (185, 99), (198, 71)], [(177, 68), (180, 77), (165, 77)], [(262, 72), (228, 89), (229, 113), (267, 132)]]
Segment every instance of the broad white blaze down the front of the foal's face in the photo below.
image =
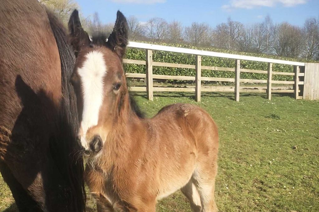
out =
[(93, 51), (85, 55), (85, 61), (78, 68), (83, 93), (83, 113), (80, 128), (81, 144), (88, 149), (85, 141), (86, 131), (98, 124), (99, 110), (103, 102), (104, 75), (107, 72), (103, 54)]

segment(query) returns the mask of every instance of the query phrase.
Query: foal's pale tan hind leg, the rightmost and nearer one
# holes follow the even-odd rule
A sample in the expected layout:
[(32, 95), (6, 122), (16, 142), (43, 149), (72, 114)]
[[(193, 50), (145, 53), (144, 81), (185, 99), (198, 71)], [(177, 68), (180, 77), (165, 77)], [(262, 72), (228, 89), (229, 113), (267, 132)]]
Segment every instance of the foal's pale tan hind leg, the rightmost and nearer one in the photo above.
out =
[(217, 166), (211, 170), (199, 169), (193, 175), (195, 186), (198, 189), (202, 210), (201, 212), (218, 211), (215, 202), (215, 177), (217, 174)]

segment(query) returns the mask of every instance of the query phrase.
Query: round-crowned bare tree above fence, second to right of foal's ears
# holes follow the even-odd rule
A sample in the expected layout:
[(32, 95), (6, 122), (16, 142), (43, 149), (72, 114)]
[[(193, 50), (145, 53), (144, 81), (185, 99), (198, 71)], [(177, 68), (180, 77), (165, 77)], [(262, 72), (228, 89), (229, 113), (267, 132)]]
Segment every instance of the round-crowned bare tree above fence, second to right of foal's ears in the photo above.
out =
[(168, 31), (167, 22), (163, 18), (152, 18), (145, 25), (145, 32), (152, 41), (161, 42)]

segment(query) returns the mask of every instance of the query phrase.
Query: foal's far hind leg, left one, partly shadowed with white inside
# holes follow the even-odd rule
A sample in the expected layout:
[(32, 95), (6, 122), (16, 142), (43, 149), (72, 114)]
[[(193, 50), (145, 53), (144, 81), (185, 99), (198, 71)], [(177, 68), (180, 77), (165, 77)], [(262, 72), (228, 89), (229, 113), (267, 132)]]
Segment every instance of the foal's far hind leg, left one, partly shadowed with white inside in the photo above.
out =
[(182, 193), (187, 197), (190, 203), (190, 208), (193, 212), (201, 211), (201, 201), (198, 194), (197, 188), (193, 183), (193, 180), (190, 179), (189, 182), (181, 188)]

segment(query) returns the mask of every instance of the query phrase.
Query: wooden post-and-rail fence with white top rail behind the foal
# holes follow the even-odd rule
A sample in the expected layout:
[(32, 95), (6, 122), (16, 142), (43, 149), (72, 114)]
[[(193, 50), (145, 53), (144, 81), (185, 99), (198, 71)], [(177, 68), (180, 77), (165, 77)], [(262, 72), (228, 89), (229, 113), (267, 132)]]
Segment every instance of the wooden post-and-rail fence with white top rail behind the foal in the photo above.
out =
[[(201, 92), (234, 92), (235, 100), (239, 101), (240, 93), (267, 93), (267, 98), (271, 99), (271, 93), (294, 93), (296, 99), (319, 99), (319, 64), (305, 64), (302, 62), (294, 62), (287, 60), (275, 60), (268, 58), (252, 57), (245, 55), (236, 55), (228, 53), (217, 53), (209, 51), (201, 51), (195, 49), (178, 48), (171, 46), (160, 46), (153, 44), (130, 42), (129, 47), (142, 48), (146, 50), (145, 60), (129, 60), (124, 59), (123, 62), (127, 64), (137, 64), (146, 66), (146, 74), (135, 74), (126, 73), (128, 78), (144, 78), (146, 79), (146, 87), (130, 87), (131, 91), (146, 91), (149, 100), (153, 100), (154, 91), (169, 91), (169, 92), (195, 92), (195, 100), (200, 102)], [(169, 51), (175, 53), (187, 53), (193, 54), (196, 57), (196, 63), (194, 65), (189, 64), (175, 64), (166, 62), (155, 62), (152, 60), (152, 50)], [(212, 67), (202, 66), (201, 56), (212, 56), (230, 58), (235, 60), (234, 68), (225, 67)], [(240, 68), (241, 60), (253, 60), (260, 62), (268, 62), (268, 70), (252, 70)], [(276, 72), (272, 69), (273, 63), (292, 65), (294, 72)], [(153, 74), (153, 66), (161, 67), (172, 67), (172, 68), (191, 68), (196, 70), (195, 76), (171, 76), (171, 75), (158, 75)], [(218, 77), (203, 77), (201, 76), (201, 70), (219, 70), (219, 71), (231, 71), (235, 72), (234, 78), (218, 78)], [(308, 71), (309, 70), (309, 71)], [(241, 79), (240, 73), (258, 73), (267, 74), (267, 80), (257, 79)], [(292, 75), (294, 81), (274, 81), (272, 75)], [(153, 79), (164, 79), (164, 80), (189, 80), (195, 81), (195, 87), (187, 88), (169, 88), (169, 87), (154, 87)], [(305, 80), (304, 80), (305, 79)], [(201, 86), (201, 81), (223, 81), (223, 82), (234, 82), (234, 86), (214, 86), (205, 87)], [(267, 83), (267, 87), (245, 87), (241, 86), (241, 82), (252, 82), (252, 83)], [(289, 85), (292, 88), (282, 89), (282, 87), (272, 87), (273, 84), (284, 84)], [(310, 97), (311, 96), (311, 97)]]

